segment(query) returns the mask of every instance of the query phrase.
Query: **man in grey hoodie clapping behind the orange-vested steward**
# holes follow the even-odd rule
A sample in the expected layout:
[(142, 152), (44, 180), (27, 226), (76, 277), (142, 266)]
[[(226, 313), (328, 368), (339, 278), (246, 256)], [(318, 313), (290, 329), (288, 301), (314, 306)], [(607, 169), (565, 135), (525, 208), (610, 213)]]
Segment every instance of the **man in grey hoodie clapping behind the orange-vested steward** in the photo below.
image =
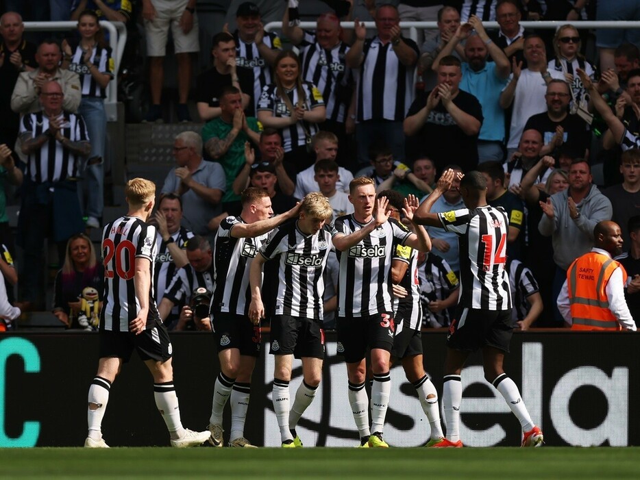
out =
[[(556, 276), (552, 286), (554, 318), (558, 327), (563, 318), (556, 301), (567, 278), (571, 262), (593, 247), (593, 228), (602, 220), (611, 220), (611, 201), (591, 184), (591, 168), (585, 160), (576, 158), (569, 167), (569, 188), (553, 194), (540, 207), (545, 213), (538, 230), (543, 236), (552, 237)], [(545, 259), (541, 259), (545, 260)]]

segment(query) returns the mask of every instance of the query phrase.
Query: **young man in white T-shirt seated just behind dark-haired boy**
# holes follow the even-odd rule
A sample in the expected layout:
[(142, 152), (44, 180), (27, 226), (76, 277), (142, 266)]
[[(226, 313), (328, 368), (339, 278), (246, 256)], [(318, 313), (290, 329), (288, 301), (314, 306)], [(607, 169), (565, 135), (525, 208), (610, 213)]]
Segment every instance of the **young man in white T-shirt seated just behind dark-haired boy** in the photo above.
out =
[[(295, 177), (295, 192), (293, 197), (296, 199), (304, 199), (309, 192), (319, 191), (318, 182), (315, 179), (315, 164), (321, 160), (335, 161), (338, 157), (338, 137), (330, 131), (321, 130), (313, 137), (313, 151), (315, 153), (315, 163), (302, 170)], [(349, 182), (354, 179), (354, 175), (344, 167), (340, 167), (338, 171), (338, 183), (336, 188), (341, 192), (349, 192)]]

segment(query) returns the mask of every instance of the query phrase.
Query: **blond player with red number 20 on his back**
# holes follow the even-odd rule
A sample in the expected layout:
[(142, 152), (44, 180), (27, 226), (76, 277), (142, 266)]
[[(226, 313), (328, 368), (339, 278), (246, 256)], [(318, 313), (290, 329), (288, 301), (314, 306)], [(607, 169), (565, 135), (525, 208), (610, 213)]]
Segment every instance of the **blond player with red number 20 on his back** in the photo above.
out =
[(158, 244), (156, 228), (146, 222), (156, 203), (156, 186), (134, 178), (127, 182), (125, 197), (129, 212), (106, 225), (102, 234), (106, 279), (100, 314), (100, 359), (89, 387), (89, 432), (84, 446), (108, 448), (102, 438), (102, 418), (109, 390), (134, 349), (153, 375), (153, 396), (171, 434), (171, 446), (197, 446), (206, 442), (209, 432), (182, 427), (173, 388), (173, 349), (154, 300), (153, 265)]

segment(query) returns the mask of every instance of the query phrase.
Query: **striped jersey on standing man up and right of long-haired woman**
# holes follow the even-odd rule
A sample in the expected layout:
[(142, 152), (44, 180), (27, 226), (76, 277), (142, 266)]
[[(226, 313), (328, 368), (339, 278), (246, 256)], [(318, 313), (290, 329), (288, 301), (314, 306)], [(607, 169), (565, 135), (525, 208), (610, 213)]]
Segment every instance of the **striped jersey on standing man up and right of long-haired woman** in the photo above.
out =
[(345, 64), (349, 45), (339, 42), (323, 49), (315, 31), (304, 31), (300, 49), (302, 78), (318, 87), (327, 108), (327, 120), (344, 122), (353, 92), (354, 74)]

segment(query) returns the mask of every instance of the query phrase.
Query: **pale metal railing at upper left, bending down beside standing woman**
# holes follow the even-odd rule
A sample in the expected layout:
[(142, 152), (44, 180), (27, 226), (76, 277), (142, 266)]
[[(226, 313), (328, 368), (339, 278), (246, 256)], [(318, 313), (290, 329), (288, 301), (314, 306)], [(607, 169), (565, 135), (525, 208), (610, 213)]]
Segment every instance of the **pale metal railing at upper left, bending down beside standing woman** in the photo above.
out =
[[(111, 47), (111, 55), (114, 60), (114, 77), (109, 82), (107, 88), (107, 97), (104, 101), (104, 108), (107, 114), (107, 120), (114, 122), (118, 120), (116, 103), (118, 101), (118, 71), (120, 62), (125, 51), (127, 42), (127, 28), (122, 22), (100, 21), (101, 27), (109, 32), (109, 46)], [(25, 30), (27, 31), (67, 31), (77, 29), (77, 22), (25, 22)]]

